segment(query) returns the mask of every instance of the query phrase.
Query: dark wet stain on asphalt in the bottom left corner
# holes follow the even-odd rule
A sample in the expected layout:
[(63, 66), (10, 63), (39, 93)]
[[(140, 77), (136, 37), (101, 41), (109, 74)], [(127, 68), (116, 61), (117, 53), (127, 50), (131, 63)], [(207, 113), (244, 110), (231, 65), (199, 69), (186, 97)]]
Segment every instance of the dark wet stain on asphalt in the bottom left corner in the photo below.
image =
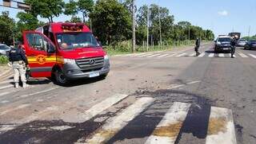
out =
[[(114, 104), (116, 106), (118, 103)], [(90, 134), (100, 129), (106, 120), (114, 117), (119, 111), (128, 106), (118, 107), (116, 111), (108, 111), (97, 115), (85, 123), (66, 123), (62, 120), (34, 121), (17, 126), (14, 130), (8, 130), (0, 134), (0, 143), (62, 143), (70, 144), (80, 138), (88, 138)], [(102, 119), (104, 118), (104, 119)], [(97, 121), (95, 119), (102, 119)], [(56, 127), (70, 127), (65, 130), (54, 130)]]

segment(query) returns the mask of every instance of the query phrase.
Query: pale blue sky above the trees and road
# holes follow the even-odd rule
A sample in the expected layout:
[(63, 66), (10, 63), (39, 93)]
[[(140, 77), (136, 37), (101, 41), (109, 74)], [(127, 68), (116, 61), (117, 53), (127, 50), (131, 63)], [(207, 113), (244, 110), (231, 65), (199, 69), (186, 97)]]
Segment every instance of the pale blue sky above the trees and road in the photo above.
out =
[[(22, 0), (19, 0), (22, 1)], [(68, 2), (68, 0), (64, 0)], [(242, 37), (256, 34), (256, 1), (255, 0), (135, 0), (137, 7), (152, 3), (170, 10), (175, 22), (190, 21), (192, 25), (201, 26), (203, 29), (211, 29), (215, 36), (240, 32)], [(2, 4), (2, 0), (0, 0)], [(18, 11), (0, 7), (0, 12), (10, 11), (10, 17), (16, 18)], [(79, 14), (81, 15), (81, 14)], [(54, 21), (66, 21), (70, 17), (61, 15)], [(47, 19), (40, 18), (41, 21)]]

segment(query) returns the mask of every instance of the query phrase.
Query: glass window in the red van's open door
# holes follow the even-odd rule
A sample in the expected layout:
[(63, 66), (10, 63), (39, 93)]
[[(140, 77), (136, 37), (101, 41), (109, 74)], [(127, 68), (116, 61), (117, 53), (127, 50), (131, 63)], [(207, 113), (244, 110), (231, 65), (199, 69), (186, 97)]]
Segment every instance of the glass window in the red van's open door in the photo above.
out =
[(30, 45), (30, 48), (38, 51), (45, 51), (47, 50), (47, 45), (53, 46), (47, 41), (44, 37), (42, 37), (38, 33), (28, 33), (26, 34), (26, 39)]

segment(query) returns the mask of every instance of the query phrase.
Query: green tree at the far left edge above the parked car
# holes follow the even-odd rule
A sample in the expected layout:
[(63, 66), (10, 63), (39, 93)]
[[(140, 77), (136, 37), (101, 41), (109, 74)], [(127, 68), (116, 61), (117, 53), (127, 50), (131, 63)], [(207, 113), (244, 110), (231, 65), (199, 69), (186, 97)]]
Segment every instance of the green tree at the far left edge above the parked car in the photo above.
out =
[(15, 21), (9, 17), (8, 11), (3, 11), (0, 15), (0, 43), (11, 45), (15, 35)]

